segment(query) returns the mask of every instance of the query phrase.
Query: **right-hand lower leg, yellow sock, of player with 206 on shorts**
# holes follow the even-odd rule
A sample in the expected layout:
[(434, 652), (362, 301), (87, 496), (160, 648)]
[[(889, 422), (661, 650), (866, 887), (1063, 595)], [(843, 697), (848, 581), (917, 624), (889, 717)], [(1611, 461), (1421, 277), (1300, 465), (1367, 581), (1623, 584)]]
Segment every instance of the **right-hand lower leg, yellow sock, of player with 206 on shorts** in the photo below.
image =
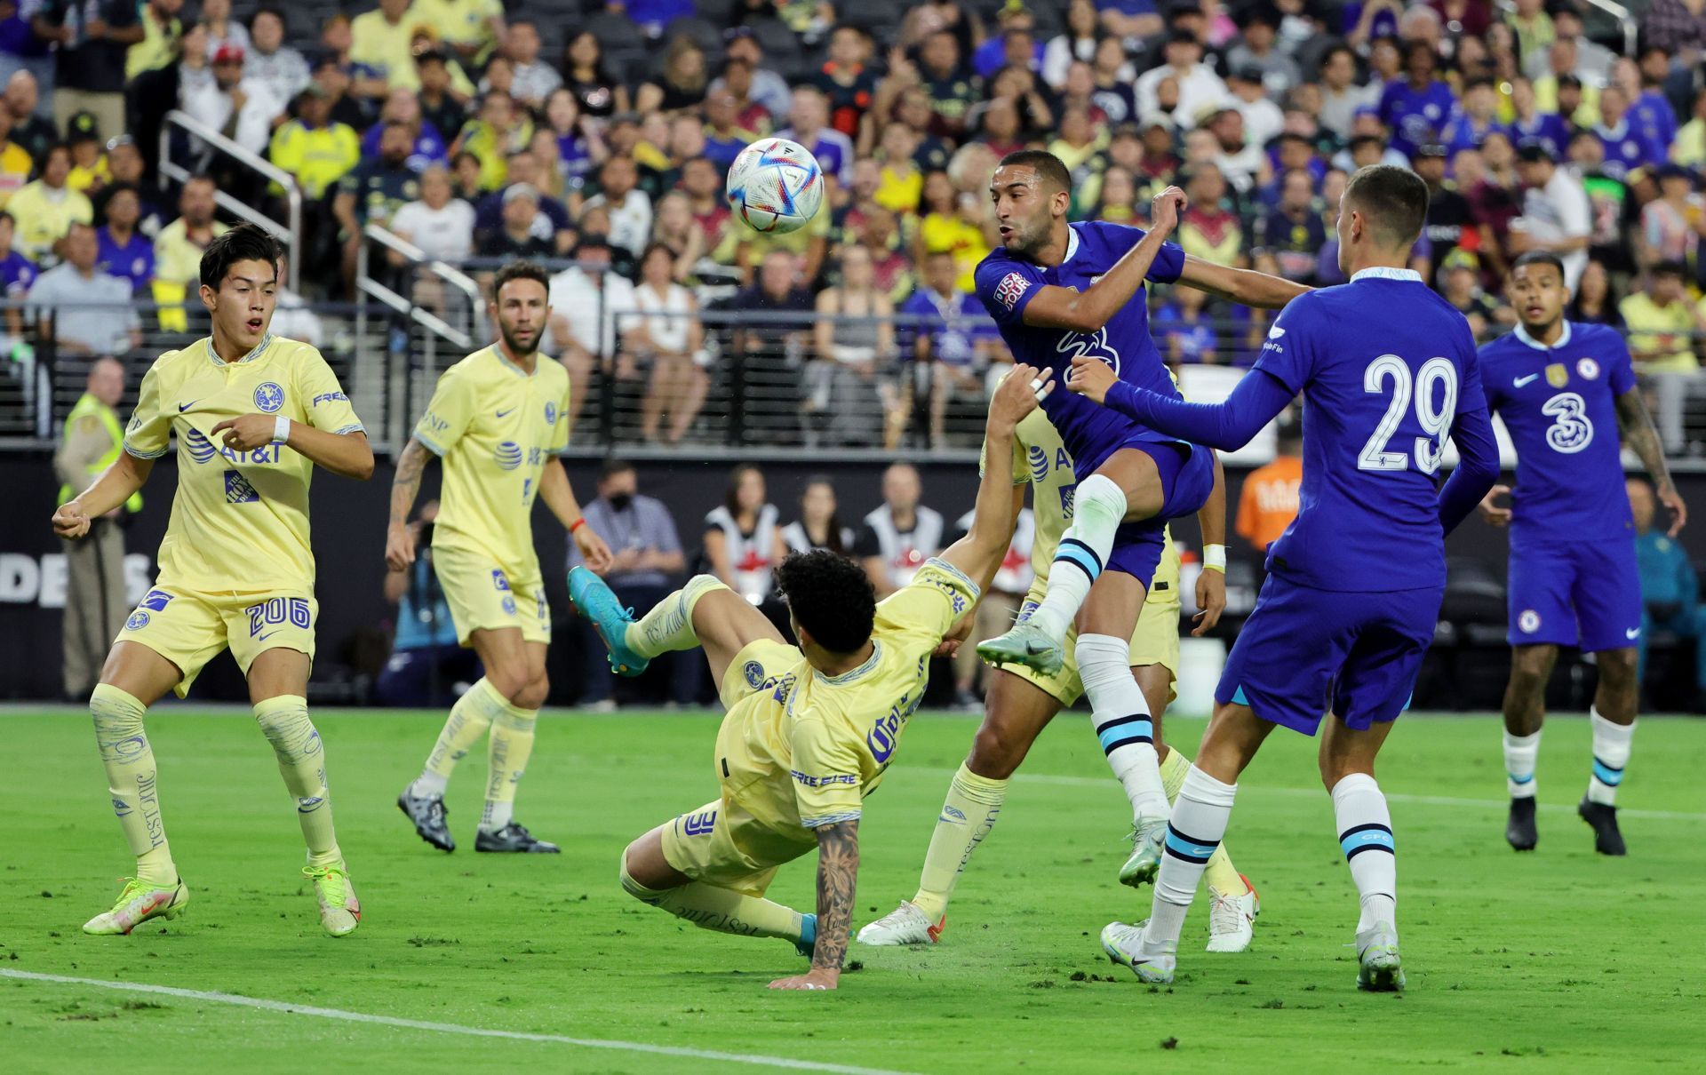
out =
[[(254, 669), (249, 672), (252, 676)], [(285, 788), (297, 804), (297, 821), (309, 848), (302, 875), (314, 882), (321, 927), (333, 937), (346, 937), (362, 923), (362, 901), (355, 896), (343, 851), (338, 850), (338, 833), (331, 821), (331, 790), (326, 783), (326, 751), (314, 722), (309, 720), (307, 698), (300, 694), (263, 698), (254, 703), (254, 722), (273, 746), (278, 775), (285, 778)]]

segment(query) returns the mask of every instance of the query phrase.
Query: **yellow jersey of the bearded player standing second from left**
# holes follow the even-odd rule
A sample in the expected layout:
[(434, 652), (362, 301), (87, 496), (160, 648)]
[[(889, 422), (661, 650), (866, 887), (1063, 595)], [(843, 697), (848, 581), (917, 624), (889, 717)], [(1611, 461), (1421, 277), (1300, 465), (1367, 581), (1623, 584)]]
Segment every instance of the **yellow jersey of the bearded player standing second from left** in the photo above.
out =
[(539, 355), (527, 374), (498, 345), (438, 377), (415, 439), (444, 461), (433, 546), (485, 553), (512, 582), (539, 575), (532, 502), (568, 444), (568, 370)]

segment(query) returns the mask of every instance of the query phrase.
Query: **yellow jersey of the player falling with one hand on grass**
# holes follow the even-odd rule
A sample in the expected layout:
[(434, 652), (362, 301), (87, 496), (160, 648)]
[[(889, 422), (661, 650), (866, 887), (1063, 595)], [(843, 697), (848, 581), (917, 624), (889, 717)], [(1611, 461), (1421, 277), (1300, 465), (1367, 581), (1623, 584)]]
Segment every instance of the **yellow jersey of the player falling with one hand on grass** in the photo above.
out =
[(728, 710), (717, 775), (756, 822), (740, 833), (747, 853), (785, 862), (817, 845), (812, 829), (860, 816), (923, 700), (930, 654), (974, 604), (978, 584), (928, 560), (877, 604), (870, 660), (827, 677), (802, 657)]

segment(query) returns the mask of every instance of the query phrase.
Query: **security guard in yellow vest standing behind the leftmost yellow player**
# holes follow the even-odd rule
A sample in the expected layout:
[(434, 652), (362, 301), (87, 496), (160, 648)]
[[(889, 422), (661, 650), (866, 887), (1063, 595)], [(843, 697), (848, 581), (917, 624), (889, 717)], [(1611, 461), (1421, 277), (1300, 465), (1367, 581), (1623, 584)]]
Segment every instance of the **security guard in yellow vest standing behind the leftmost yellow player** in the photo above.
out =
[[(60, 503), (89, 488), (125, 450), (125, 427), (113, 410), (125, 396), (125, 367), (99, 358), (89, 370), (82, 399), (65, 416), (53, 469), (60, 476)], [(94, 689), (101, 662), (113, 648), (130, 606), (125, 604), (125, 534), (119, 512), (142, 510), (142, 493), (123, 508), (96, 519), (84, 541), (65, 543), (65, 696)]]

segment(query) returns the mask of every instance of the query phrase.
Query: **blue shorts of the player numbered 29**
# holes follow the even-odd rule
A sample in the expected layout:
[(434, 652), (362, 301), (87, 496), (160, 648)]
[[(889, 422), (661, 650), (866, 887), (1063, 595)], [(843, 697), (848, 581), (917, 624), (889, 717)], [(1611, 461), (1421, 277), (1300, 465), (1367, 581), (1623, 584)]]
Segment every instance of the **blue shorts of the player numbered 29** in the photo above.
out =
[(1314, 735), (1329, 710), (1351, 729), (1397, 718), (1433, 642), (1445, 587), (1356, 594), (1268, 575), (1215, 700)]

